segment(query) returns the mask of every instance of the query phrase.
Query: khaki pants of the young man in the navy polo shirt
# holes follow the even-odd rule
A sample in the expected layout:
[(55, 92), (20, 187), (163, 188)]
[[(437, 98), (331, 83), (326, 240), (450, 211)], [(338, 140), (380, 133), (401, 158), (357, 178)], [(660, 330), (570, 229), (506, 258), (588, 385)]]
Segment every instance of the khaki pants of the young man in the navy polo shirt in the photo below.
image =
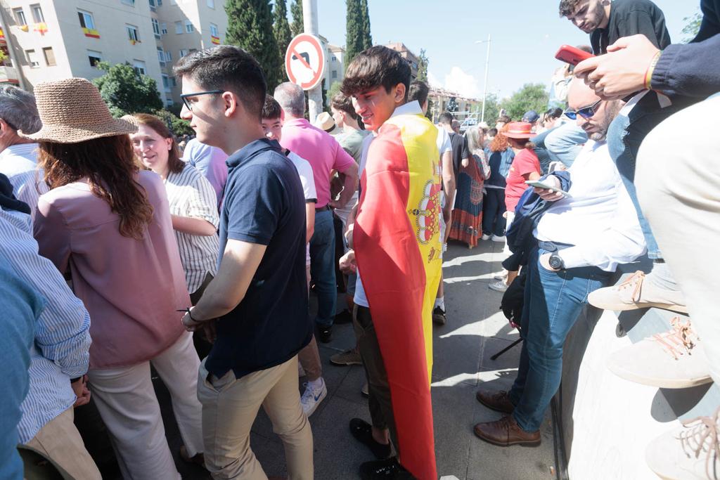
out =
[(205, 466), (212, 478), (267, 480), (250, 448), (250, 429), (262, 405), (285, 446), (290, 480), (312, 480), (312, 430), (300, 406), (297, 356), (240, 379), (228, 371), (218, 379), (203, 361), (197, 380), (202, 403)]

